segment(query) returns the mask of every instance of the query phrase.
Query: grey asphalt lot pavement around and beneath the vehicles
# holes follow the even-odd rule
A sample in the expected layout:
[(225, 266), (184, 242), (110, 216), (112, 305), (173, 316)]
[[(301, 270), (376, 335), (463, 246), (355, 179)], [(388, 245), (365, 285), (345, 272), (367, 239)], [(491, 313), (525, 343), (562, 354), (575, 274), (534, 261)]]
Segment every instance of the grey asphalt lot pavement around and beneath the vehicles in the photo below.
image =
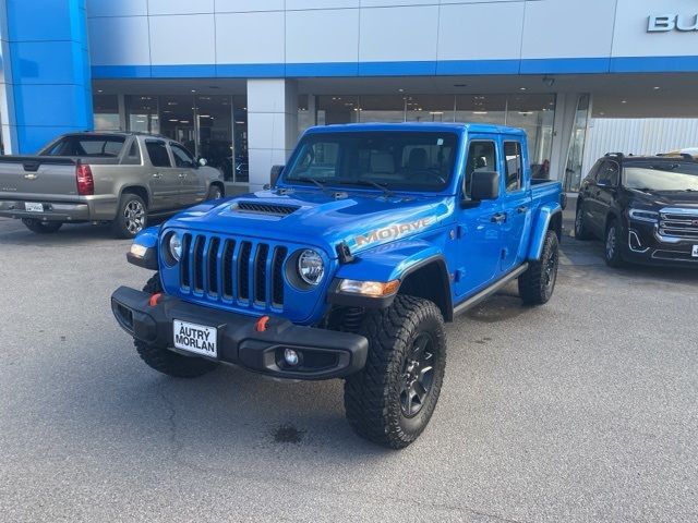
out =
[(697, 521), (698, 271), (563, 241), (552, 301), (515, 287), (448, 326), (432, 422), (354, 436), (341, 382), (143, 364), (108, 228), (0, 219), (0, 521)]

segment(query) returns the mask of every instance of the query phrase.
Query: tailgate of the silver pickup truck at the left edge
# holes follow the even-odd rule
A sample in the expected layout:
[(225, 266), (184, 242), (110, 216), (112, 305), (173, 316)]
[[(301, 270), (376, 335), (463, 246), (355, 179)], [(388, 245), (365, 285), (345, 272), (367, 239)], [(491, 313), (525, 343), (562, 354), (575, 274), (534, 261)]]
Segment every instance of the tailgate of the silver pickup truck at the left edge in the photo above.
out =
[(0, 157), (0, 199), (75, 200), (74, 158)]

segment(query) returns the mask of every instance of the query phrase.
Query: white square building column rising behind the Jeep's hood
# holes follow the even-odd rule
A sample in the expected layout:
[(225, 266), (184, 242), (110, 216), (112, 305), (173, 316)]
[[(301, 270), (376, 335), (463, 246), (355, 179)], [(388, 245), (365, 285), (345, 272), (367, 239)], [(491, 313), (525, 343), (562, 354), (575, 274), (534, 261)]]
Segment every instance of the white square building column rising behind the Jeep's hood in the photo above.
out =
[(296, 81), (248, 80), (250, 191), (269, 183), (272, 166), (286, 163), (297, 137)]

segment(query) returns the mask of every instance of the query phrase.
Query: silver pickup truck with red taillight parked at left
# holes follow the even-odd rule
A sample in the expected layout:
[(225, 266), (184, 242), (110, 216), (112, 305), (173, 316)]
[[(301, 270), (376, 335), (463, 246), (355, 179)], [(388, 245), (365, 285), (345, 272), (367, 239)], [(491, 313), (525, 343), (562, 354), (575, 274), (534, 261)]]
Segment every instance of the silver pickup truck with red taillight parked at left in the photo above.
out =
[(133, 238), (148, 215), (224, 194), (218, 169), (165, 136), (72, 133), (37, 156), (0, 156), (0, 216), (37, 233), (110, 222), (117, 236)]

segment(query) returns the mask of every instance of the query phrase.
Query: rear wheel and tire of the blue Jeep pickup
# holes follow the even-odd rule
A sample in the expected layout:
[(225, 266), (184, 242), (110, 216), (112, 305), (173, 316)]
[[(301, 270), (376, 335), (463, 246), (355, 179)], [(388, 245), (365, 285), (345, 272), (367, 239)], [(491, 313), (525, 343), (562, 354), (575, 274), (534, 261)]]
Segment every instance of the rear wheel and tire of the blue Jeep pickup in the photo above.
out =
[(553, 295), (559, 265), (559, 241), (554, 231), (545, 233), (541, 258), (529, 262), (528, 269), (519, 276), (519, 296), (527, 305), (542, 305)]

